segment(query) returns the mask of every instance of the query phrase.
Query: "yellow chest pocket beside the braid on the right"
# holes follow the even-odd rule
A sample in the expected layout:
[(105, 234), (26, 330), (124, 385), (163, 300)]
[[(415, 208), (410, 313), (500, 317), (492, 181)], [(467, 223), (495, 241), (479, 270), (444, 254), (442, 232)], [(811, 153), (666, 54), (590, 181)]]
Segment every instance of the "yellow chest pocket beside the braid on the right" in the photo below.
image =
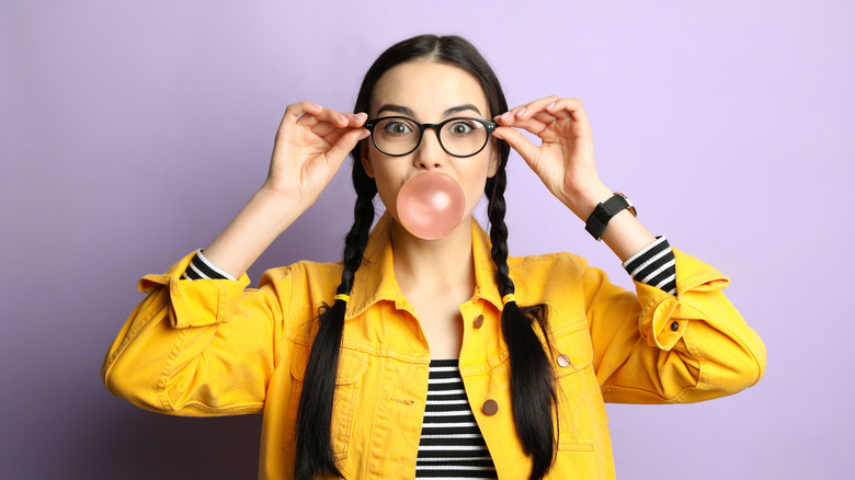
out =
[(558, 393), (558, 449), (594, 450), (608, 424), (603, 393), (593, 367), (591, 334), (582, 321), (578, 329), (555, 339)]

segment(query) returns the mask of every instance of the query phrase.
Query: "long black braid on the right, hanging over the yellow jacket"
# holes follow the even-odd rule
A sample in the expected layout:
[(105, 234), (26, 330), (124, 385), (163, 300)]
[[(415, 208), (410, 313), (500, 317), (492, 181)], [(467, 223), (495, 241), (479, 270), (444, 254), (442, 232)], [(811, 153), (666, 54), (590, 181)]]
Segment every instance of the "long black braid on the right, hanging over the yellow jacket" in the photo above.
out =
[[(514, 293), (508, 268), (508, 227), (504, 224), (504, 190), (508, 183), (504, 164), (485, 187), (489, 204), (490, 254), (495, 263), (495, 283), (504, 297)], [(556, 453), (552, 415), (557, 403), (555, 374), (544, 346), (534, 331), (537, 320), (551, 351), (547, 306), (520, 307), (508, 301), (502, 309), (502, 335), (511, 362), (511, 403), (514, 423), (523, 450), (532, 457), (529, 479), (543, 478), (551, 468)], [(550, 415), (544, 415), (550, 412)]]

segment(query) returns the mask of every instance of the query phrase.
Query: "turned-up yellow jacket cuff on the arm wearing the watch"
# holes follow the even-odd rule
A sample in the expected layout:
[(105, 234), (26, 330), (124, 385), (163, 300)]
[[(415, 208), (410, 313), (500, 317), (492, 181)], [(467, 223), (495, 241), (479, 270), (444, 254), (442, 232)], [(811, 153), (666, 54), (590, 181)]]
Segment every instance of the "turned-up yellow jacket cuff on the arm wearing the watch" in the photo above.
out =
[(706, 263), (673, 249), (676, 270), (676, 297), (636, 281), (636, 290), (642, 310), (639, 330), (645, 341), (658, 348), (671, 350), (683, 336), (688, 319), (696, 310), (681, 300), (694, 294), (723, 289), (730, 279)]

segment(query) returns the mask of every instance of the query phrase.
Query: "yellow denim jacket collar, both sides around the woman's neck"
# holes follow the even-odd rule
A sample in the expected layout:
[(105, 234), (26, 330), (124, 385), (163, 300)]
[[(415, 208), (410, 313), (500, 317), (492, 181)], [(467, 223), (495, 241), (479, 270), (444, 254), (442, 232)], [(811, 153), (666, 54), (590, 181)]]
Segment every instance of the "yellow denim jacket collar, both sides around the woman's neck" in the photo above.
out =
[[(345, 320), (351, 320), (380, 300), (394, 301), (398, 309), (409, 309), (395, 278), (391, 248), (392, 218), (388, 213), (377, 221), (368, 237), (362, 266), (356, 271)], [(475, 261), (475, 293), (472, 299), (485, 299), (497, 310), (502, 309), (502, 297), (495, 286), (495, 266), (490, 258), (492, 244), (487, 232), (472, 218), (472, 260)]]

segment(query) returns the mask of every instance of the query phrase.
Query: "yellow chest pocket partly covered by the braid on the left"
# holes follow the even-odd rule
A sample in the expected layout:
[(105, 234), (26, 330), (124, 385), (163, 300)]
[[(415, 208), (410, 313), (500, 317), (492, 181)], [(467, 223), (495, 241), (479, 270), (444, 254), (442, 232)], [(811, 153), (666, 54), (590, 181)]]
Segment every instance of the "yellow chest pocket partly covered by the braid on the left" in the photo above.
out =
[[(290, 358), (292, 391), (288, 400), (288, 410), (285, 416), (288, 427), (285, 430), (285, 443), (283, 448), (296, 452), (297, 407), (300, 402), (300, 392), (306, 373), (306, 364), (309, 361), (308, 345), (294, 345)], [(337, 460), (347, 458), (353, 434), (354, 412), (360, 400), (362, 377), (368, 363), (366, 353), (341, 348), (339, 354), (339, 369), (335, 375), (335, 393), (332, 402), (332, 453)]]

